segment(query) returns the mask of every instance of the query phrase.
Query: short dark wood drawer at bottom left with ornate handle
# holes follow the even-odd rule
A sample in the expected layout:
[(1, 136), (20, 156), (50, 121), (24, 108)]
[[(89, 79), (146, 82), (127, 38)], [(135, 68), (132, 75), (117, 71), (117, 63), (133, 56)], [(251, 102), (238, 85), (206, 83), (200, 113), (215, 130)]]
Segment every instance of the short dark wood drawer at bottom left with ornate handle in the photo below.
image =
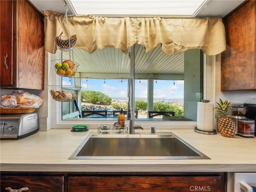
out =
[(5, 188), (20, 189), (27, 187), (29, 192), (63, 192), (63, 176), (1, 176), (1, 192)]

